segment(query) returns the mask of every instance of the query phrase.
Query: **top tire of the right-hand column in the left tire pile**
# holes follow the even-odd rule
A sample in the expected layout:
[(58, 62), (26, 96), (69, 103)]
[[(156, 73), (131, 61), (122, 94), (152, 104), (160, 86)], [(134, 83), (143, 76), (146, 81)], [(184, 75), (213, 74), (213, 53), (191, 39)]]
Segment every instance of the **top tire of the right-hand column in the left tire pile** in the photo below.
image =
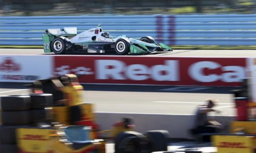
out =
[(31, 97), (31, 108), (32, 109), (43, 109), (46, 107), (51, 107), (53, 105), (53, 96), (49, 93), (28, 94)]

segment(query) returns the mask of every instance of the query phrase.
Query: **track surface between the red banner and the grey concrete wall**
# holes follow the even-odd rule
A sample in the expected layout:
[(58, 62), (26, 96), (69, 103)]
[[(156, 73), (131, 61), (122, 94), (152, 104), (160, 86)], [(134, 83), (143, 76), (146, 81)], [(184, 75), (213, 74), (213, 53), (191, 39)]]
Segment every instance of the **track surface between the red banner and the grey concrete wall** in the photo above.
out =
[[(196, 106), (203, 104), (208, 98), (219, 99), (220, 104), (217, 104), (216, 107), (227, 115), (234, 115), (235, 109), (230, 90), (238, 89), (237, 87), (211, 87), (207, 89), (196, 87), (197, 90), (185, 91), (191, 89), (175, 86), (92, 84), (83, 84), (83, 86), (85, 89), (84, 100), (87, 103), (95, 104), (96, 112), (185, 115), (193, 114)], [(0, 95), (30, 92), (23, 84), (17, 83), (1, 83), (0, 88)]]

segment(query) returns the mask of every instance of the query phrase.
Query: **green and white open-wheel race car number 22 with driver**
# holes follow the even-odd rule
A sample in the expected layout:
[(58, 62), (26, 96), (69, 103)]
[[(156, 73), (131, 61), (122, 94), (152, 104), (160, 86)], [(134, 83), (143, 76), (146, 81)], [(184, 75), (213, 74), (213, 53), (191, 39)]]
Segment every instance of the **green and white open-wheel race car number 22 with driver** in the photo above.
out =
[(101, 25), (77, 34), (76, 27), (47, 29), (43, 35), (44, 53), (108, 53), (118, 55), (147, 54), (151, 52), (172, 51), (163, 44), (156, 43), (150, 36), (140, 40), (127, 38), (125, 35), (114, 37), (103, 32)]

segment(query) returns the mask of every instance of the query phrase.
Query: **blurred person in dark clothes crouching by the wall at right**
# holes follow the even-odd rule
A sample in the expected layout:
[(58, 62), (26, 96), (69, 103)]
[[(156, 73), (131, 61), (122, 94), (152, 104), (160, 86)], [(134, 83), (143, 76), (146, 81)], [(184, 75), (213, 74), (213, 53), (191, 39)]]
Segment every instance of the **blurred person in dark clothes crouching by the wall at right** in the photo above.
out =
[[(207, 104), (199, 105), (193, 123), (191, 133), (194, 135), (202, 133), (218, 133), (221, 124), (213, 119), (209, 119), (207, 113), (209, 112), (220, 112), (214, 110), (212, 107), (215, 106), (216, 99), (207, 100)], [(206, 138), (209, 141), (209, 138)]]

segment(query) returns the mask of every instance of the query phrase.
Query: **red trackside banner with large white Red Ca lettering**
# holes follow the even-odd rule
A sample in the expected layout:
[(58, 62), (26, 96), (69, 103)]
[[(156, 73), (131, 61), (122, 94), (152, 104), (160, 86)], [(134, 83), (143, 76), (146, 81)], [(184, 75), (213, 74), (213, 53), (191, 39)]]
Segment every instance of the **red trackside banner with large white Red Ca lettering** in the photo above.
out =
[(54, 56), (55, 75), (83, 75), (81, 83), (238, 86), (246, 58)]

